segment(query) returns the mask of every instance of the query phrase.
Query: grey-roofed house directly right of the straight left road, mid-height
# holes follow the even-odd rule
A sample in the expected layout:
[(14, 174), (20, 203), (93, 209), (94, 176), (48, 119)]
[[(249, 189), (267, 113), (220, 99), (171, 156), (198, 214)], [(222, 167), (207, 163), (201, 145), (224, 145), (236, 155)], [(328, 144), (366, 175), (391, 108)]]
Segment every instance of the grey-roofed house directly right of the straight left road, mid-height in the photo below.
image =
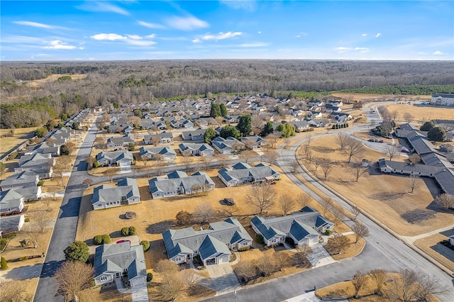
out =
[(93, 190), (92, 206), (94, 210), (134, 203), (140, 203), (140, 192), (137, 181), (132, 178), (121, 179), (116, 187), (103, 184), (96, 186)]

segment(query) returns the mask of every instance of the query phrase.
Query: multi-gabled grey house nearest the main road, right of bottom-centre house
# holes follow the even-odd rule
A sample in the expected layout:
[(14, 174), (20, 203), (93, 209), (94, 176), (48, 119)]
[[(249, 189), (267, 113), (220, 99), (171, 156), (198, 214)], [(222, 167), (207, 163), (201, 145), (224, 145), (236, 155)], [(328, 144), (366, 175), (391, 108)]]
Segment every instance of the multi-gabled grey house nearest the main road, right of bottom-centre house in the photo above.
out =
[(334, 228), (334, 223), (309, 206), (277, 218), (255, 216), (250, 225), (255, 233), (263, 236), (267, 246), (279, 245), (287, 237), (292, 238), (295, 245), (314, 245), (319, 242), (319, 232)]

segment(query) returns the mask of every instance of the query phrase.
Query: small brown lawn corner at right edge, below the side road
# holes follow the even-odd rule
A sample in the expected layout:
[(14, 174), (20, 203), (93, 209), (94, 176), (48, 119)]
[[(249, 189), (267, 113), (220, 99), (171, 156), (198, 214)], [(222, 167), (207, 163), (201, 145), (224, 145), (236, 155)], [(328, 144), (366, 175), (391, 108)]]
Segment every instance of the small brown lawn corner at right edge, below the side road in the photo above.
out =
[(454, 271), (454, 251), (438, 243), (443, 240), (448, 240), (448, 237), (438, 233), (416, 240), (414, 245), (423, 250), (423, 252), (426, 252), (427, 255), (436, 259), (445, 267), (448, 267), (451, 271)]

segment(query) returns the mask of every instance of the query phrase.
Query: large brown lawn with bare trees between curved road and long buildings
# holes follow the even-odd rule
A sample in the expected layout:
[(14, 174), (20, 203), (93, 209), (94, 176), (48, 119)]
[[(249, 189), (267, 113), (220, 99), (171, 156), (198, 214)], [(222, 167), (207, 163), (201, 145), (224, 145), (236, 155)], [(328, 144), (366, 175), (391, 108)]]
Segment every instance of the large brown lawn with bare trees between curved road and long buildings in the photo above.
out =
[[(431, 230), (443, 228), (454, 223), (449, 213), (441, 213), (428, 209), (433, 196), (427, 187), (416, 187), (409, 193), (408, 178), (395, 174), (380, 174), (376, 167), (370, 167), (369, 173), (355, 181), (353, 172), (347, 164), (348, 157), (340, 150), (335, 137), (318, 138), (311, 141), (313, 154), (336, 162), (328, 175), (326, 184), (350, 199), (363, 210), (370, 213), (384, 225), (401, 235), (414, 236)], [(304, 149), (299, 148), (299, 156), (304, 158)], [(384, 157), (380, 152), (367, 149), (358, 159), (367, 158), (371, 163)], [(314, 171), (314, 164), (304, 161), (306, 167)], [(321, 168), (315, 172), (323, 179)]]

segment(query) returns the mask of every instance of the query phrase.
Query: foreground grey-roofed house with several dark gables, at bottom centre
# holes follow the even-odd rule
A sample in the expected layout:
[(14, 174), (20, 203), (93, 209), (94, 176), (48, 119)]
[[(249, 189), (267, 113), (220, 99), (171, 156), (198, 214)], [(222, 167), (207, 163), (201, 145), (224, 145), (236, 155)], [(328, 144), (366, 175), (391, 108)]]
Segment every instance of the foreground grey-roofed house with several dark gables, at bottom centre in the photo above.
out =
[(236, 218), (210, 223), (206, 230), (166, 230), (162, 238), (170, 261), (187, 263), (198, 255), (204, 266), (229, 262), (231, 250), (247, 249), (253, 242)]

